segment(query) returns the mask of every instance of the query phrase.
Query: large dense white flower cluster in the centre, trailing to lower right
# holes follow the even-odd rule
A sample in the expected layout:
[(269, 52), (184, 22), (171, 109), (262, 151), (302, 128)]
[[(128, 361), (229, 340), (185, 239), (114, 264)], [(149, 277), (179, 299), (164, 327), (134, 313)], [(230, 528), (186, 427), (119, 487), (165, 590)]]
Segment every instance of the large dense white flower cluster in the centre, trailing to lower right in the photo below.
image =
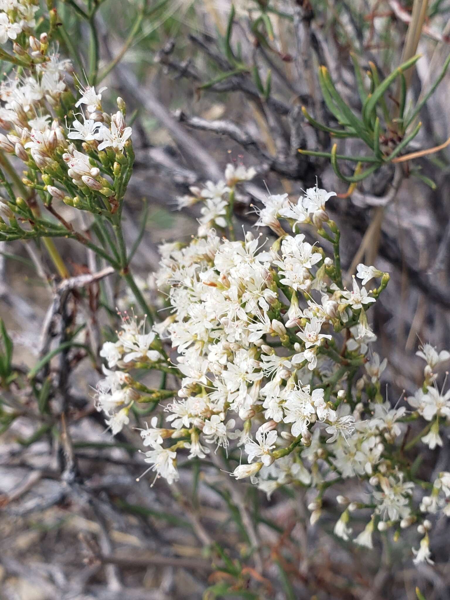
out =
[[(266, 198), (257, 210), (257, 226), (278, 235), (270, 247), (251, 232), (236, 241), (230, 205), (236, 185), (253, 176), (251, 169), (229, 165), (223, 181), (207, 182), (204, 190), (193, 188), (193, 196), (179, 199), (179, 206), (203, 202), (203, 208), (196, 238), (160, 248), (156, 281), (167, 293), (169, 314), (153, 332), (176, 350), (176, 363), (151, 346), (153, 334), (140, 345), (136, 330), (124, 323), (118, 341), (103, 347), (102, 356), (116, 370), (98, 384), (98, 406), (108, 413), (109, 424), (123, 422), (119, 415), (130, 406), (127, 394), (137, 394), (136, 382), (133, 387), (124, 379), (130, 370), (143, 365), (172, 370), (181, 383), (174, 392), (178, 398), (164, 407), (166, 427), (155, 417), (141, 431), (144, 445), (151, 447), (145, 460), (157, 476), (176, 481), (178, 452), (184, 450), (188, 459), (209, 454), (214, 461), (220, 448), (229, 460), (239, 460), (240, 449), (247, 460), (239, 460), (232, 473), (236, 479), (249, 477), (268, 496), (286, 484), (316, 491), (311, 522), (321, 517), (322, 497), (331, 485), (359, 478), (364, 497), (338, 497), (344, 511), (335, 534), (350, 539), (350, 515), (356, 510), (370, 514), (353, 538), (366, 547), (372, 547), (375, 529), (416, 523), (424, 537), (415, 562), (429, 561), (426, 517), (448, 512), (448, 474), (441, 474), (431, 496), (417, 506), (418, 480), (395, 456), (402, 443), (409, 448), (406, 439), (401, 442), (405, 421), (423, 417), (418, 441), (431, 449), (442, 444), (439, 428), (450, 415), (450, 392), (438, 391), (436, 376), (450, 355), (425, 344), (418, 353), (427, 362), (424, 385), (407, 398), (409, 406), (392, 408), (380, 386), (387, 363), (370, 350), (376, 335), (367, 316), (388, 274), (360, 264), (350, 289), (343, 285), (340, 233), (326, 212), (334, 194), (317, 186), (296, 203), (287, 194)], [(300, 224), (305, 233), (299, 233)], [(307, 232), (331, 242), (332, 256), (311, 244)], [(367, 289), (376, 278), (379, 286)], [(112, 380), (115, 389), (107, 383)], [(119, 405), (112, 397), (121, 397)], [(114, 412), (122, 404), (125, 408)]]

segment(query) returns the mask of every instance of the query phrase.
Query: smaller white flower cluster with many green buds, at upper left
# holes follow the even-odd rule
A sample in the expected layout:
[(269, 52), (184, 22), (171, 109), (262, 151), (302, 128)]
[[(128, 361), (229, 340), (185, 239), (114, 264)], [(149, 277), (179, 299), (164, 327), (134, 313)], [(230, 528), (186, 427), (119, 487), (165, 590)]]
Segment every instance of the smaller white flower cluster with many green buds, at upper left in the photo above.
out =
[[(118, 98), (117, 112), (104, 112), (106, 88), (83, 86), (71, 62), (59, 56), (57, 47), (52, 49), (50, 34), (37, 39), (20, 33), (32, 33), (37, 2), (8, 0), (2, 8), (0, 43), (16, 40), (17, 58), (7, 56), (20, 65), (20, 74), (13, 71), (0, 83), (0, 126), (5, 132), (0, 133), (0, 149), (25, 163), (23, 183), (37, 191), (53, 214), (52, 202), (59, 200), (117, 224), (134, 160), (124, 101)], [(62, 225), (45, 221), (12, 188), (6, 189), (9, 197), (0, 199), (2, 241), (45, 233), (73, 235), (62, 219)]]

